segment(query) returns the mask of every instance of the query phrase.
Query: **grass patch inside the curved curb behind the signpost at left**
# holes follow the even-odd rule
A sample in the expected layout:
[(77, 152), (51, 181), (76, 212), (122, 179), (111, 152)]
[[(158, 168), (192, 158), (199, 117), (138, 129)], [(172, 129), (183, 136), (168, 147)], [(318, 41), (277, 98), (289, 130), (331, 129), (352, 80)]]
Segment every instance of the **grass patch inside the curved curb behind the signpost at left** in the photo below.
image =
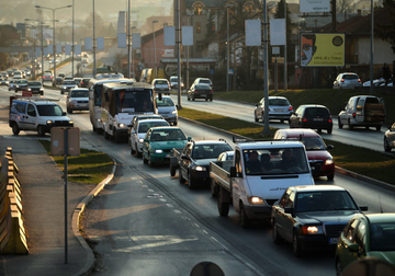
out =
[[(50, 154), (50, 141), (40, 140)], [(65, 158), (53, 157), (59, 169), (65, 170)], [(113, 160), (103, 152), (82, 149), (80, 156), (67, 158), (67, 180), (77, 183), (99, 184), (111, 172)]]

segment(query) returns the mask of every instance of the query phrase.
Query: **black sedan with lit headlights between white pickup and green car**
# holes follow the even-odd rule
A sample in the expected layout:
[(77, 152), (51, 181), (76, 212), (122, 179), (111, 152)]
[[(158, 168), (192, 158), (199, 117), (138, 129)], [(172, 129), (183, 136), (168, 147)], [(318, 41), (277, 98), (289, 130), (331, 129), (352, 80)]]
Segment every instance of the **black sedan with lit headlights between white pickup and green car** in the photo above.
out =
[(340, 186), (290, 186), (272, 206), (273, 242), (291, 242), (296, 257), (309, 250), (335, 251), (346, 225), (365, 210)]

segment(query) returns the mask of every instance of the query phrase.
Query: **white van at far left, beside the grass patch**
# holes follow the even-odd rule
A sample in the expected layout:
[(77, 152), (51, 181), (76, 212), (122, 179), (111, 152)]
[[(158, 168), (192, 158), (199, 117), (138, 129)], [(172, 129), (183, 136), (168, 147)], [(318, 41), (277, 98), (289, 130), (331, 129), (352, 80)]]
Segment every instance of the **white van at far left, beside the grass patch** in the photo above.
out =
[(74, 122), (66, 117), (57, 103), (15, 99), (10, 107), (9, 126), (14, 135), (19, 135), (20, 130), (33, 130), (45, 136), (52, 127), (72, 127)]

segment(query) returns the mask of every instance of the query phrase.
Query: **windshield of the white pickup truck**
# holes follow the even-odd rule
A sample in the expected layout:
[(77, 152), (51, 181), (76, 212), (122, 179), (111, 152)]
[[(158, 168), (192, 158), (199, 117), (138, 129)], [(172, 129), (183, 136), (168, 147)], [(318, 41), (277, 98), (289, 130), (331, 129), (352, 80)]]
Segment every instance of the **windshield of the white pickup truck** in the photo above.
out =
[(303, 148), (244, 150), (246, 175), (309, 173)]

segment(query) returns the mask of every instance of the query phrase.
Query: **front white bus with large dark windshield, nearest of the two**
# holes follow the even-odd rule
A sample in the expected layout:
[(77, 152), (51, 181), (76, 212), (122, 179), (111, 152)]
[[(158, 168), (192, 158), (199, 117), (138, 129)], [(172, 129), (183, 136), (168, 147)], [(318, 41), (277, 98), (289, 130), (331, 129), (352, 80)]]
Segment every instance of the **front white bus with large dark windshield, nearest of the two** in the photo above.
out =
[(158, 113), (155, 99), (155, 90), (148, 83), (104, 83), (101, 116), (104, 138), (114, 138), (116, 142), (127, 138), (128, 125), (136, 115)]

